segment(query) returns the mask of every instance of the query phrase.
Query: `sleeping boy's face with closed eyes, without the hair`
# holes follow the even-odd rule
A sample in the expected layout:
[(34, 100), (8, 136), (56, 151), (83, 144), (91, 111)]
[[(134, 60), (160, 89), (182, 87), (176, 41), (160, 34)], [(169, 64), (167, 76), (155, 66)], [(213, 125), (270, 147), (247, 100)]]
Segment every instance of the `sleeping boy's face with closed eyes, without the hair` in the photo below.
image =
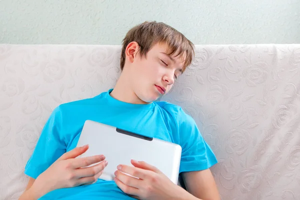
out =
[(128, 66), (130, 86), (141, 101), (151, 102), (166, 94), (175, 78), (181, 74), (183, 56), (168, 56), (166, 47), (166, 44), (157, 43), (147, 52), (146, 57), (140, 57), (136, 52), (132, 56)]

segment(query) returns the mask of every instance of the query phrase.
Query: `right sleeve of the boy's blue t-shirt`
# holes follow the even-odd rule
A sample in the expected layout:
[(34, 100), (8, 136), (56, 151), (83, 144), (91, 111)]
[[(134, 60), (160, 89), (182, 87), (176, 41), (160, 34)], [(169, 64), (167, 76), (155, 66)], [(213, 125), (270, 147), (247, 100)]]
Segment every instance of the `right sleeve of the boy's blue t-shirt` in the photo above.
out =
[(217, 159), (191, 116), (180, 108), (178, 113), (179, 145), (182, 148), (179, 172), (204, 170)]

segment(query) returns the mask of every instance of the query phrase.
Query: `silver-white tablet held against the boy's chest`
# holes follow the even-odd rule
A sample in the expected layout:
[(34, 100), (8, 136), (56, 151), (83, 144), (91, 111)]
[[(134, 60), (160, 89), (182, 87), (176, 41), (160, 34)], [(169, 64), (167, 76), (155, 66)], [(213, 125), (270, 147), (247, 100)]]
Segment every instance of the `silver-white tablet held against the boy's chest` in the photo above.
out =
[(85, 121), (77, 146), (85, 144), (89, 144), (89, 148), (78, 157), (103, 154), (108, 161), (100, 179), (112, 180), (118, 164), (132, 166), (130, 159), (134, 159), (157, 167), (177, 184), (181, 157), (178, 144), (91, 120)]

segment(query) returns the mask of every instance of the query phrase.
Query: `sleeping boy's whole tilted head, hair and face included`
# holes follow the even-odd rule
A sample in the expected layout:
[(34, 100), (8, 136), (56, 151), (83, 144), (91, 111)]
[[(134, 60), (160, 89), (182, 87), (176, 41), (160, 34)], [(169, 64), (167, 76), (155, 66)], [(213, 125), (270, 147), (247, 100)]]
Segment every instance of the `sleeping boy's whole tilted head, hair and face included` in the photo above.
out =
[(143, 22), (123, 39), (120, 67), (132, 92), (144, 102), (167, 93), (191, 63), (193, 44), (162, 22)]

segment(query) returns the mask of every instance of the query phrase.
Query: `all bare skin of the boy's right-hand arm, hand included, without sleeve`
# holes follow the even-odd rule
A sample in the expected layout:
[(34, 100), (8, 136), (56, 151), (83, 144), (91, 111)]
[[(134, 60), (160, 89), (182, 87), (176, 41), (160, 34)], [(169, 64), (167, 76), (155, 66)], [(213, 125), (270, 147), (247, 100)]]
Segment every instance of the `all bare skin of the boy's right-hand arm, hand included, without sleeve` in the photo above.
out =
[(131, 160), (131, 163), (134, 167), (119, 165), (114, 181), (125, 193), (137, 199), (220, 200), (210, 169), (182, 172), (186, 191), (156, 167), (143, 161)]

